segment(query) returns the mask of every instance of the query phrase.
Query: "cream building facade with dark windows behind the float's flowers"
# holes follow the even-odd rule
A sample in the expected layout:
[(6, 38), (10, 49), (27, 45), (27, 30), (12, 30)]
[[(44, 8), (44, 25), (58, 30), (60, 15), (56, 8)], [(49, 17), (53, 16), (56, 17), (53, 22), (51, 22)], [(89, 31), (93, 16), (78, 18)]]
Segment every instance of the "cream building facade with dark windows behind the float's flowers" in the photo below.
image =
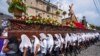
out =
[[(10, 3), (11, 0), (8, 0), (7, 2)], [(23, 2), (27, 6), (26, 12), (28, 15), (40, 15), (42, 18), (53, 18), (61, 23), (61, 15), (56, 15), (56, 11), (60, 9), (58, 9), (56, 5), (49, 3), (46, 0), (23, 0)]]

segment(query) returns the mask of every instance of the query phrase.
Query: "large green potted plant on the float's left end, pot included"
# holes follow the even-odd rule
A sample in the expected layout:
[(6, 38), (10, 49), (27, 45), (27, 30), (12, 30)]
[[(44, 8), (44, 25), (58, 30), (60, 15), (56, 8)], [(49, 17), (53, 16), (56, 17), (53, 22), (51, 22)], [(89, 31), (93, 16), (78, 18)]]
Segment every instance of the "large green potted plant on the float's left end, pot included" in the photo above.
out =
[(22, 0), (12, 0), (9, 4), (8, 11), (10, 13), (14, 13), (15, 17), (21, 17), (22, 13), (26, 13), (26, 5), (22, 2)]

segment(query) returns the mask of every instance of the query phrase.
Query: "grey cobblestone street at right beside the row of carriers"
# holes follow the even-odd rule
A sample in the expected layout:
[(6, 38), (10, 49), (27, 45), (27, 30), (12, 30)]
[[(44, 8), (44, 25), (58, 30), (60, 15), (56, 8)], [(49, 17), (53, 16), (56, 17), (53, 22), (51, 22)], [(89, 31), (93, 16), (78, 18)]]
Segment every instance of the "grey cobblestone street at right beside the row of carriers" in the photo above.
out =
[(86, 50), (83, 50), (78, 56), (100, 56), (100, 42), (92, 45)]

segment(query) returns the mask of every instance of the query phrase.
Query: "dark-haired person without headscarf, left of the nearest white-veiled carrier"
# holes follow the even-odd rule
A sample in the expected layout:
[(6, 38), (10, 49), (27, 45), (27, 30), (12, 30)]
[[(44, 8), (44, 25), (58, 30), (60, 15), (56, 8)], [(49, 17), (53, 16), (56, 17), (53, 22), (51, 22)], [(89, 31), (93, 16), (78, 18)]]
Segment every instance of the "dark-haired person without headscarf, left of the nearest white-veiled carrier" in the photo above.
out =
[(3, 52), (6, 53), (6, 56), (18, 56), (18, 49), (18, 40), (15, 36), (11, 36), (6, 39), (3, 46)]

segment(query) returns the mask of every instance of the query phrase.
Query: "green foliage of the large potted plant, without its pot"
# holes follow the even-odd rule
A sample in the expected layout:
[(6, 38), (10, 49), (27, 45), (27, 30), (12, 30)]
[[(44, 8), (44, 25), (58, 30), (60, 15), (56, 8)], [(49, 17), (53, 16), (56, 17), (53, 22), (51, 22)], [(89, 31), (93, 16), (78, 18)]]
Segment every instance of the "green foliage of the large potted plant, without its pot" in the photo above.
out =
[(12, 0), (11, 4), (9, 5), (8, 11), (10, 13), (13, 13), (15, 9), (26, 13), (27, 8), (21, 0)]

